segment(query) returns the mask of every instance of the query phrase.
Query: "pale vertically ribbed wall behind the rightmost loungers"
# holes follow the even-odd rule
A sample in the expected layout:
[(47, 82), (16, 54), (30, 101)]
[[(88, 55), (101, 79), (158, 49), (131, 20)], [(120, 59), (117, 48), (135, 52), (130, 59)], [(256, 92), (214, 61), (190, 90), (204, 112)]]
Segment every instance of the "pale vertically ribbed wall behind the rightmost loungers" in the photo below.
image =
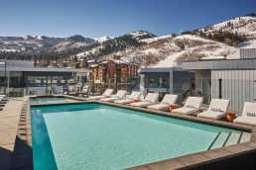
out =
[(222, 79), (222, 99), (230, 100), (229, 110), (243, 110), (244, 102), (256, 102), (256, 70), (212, 70), (212, 98), (219, 96), (218, 79)]

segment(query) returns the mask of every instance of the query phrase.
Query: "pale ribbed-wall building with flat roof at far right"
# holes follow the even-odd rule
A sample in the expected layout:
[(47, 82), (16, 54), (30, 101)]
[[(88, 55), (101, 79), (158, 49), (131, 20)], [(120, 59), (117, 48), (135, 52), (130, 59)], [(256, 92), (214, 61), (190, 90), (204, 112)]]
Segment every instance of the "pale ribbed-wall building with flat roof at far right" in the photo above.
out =
[(241, 48), (236, 59), (185, 61), (183, 68), (195, 72), (195, 88), (204, 102), (230, 100), (229, 110), (241, 115), (244, 102), (256, 102), (256, 48)]

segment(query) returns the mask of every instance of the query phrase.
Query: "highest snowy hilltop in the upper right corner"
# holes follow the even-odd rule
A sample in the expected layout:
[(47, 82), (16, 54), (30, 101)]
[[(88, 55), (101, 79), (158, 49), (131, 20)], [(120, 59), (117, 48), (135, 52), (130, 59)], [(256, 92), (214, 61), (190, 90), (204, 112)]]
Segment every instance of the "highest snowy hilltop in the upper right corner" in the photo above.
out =
[(204, 29), (203, 33), (231, 32), (238, 35), (246, 35), (248, 39), (256, 39), (256, 17), (238, 17), (222, 23), (218, 23)]

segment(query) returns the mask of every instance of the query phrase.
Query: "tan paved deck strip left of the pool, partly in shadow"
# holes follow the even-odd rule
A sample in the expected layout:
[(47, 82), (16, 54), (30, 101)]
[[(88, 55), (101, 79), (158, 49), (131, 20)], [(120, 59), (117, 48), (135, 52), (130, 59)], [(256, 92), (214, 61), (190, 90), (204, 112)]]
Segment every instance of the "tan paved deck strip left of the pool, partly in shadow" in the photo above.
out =
[[(21, 165), (23, 162), (30, 161), (32, 163), (30, 160), (32, 158), (31, 138), (27, 138), (27, 135), (25, 135), (27, 133), (25, 129), (30, 126), (30, 120), (26, 122), (24, 112), (22, 112), (24, 110), (23, 105), (24, 98), (12, 98), (0, 111), (1, 170), (26, 167), (28, 164), (26, 163), (23, 166)], [(30, 132), (30, 129), (28, 132)], [(25, 148), (31, 150), (31, 152), (25, 154)], [(30, 165), (33, 166), (31, 163)]]

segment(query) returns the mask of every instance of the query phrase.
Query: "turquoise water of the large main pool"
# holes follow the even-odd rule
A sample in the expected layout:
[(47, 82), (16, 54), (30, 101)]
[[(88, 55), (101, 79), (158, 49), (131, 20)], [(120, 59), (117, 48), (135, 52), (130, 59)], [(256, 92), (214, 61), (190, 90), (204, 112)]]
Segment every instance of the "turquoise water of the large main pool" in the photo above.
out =
[(242, 131), (99, 104), (32, 107), (34, 169), (124, 169), (234, 144)]

